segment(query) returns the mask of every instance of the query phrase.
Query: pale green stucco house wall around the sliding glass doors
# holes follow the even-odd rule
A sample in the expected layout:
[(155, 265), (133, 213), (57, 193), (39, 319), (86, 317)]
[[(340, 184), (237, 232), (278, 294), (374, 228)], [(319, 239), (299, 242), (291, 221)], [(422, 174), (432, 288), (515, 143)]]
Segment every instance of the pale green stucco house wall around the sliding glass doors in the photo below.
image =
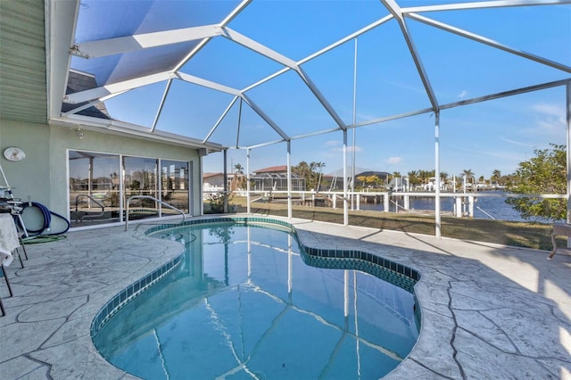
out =
[[(4, 152), (6, 147), (16, 146), (26, 153), (22, 161), (8, 161), (4, 155), (0, 157), (14, 197), (40, 202), (69, 218), (68, 150), (117, 153), (190, 161), (191, 213), (201, 214), (201, 158), (197, 149), (135, 136), (110, 135), (108, 131), (104, 134), (87, 128), (82, 131), (84, 136), (79, 138), (75, 128), (0, 120), (0, 150)], [(0, 186), (4, 186), (4, 178), (0, 178)]]

